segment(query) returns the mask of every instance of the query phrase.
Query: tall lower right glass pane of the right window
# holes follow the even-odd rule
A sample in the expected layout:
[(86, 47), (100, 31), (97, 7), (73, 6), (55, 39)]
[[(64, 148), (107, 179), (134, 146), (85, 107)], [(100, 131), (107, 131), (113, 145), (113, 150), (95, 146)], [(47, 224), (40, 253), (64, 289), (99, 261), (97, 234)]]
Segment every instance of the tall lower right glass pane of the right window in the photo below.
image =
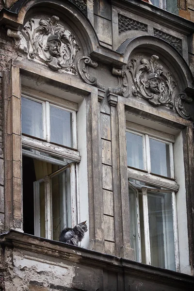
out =
[(171, 194), (147, 194), (151, 264), (176, 270)]

